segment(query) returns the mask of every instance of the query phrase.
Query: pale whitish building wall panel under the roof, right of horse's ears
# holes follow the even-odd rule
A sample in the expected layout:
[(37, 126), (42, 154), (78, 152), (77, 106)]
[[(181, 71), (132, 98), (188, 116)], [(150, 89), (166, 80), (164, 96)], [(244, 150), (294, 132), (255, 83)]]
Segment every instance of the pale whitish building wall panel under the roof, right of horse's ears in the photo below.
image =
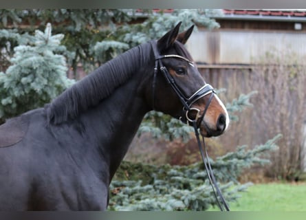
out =
[(306, 58), (306, 33), (268, 30), (199, 29), (187, 48), (197, 63), (249, 65), (270, 50), (292, 50)]

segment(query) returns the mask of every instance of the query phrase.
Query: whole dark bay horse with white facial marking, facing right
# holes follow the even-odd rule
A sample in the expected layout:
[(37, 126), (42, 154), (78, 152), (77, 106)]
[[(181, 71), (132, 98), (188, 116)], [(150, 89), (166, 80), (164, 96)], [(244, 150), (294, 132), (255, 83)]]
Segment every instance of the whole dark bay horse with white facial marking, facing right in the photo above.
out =
[(226, 130), (226, 108), (184, 47), (193, 27), (179, 34), (179, 25), (0, 126), (0, 210), (105, 210), (110, 181), (153, 109), (197, 122), (206, 137)]

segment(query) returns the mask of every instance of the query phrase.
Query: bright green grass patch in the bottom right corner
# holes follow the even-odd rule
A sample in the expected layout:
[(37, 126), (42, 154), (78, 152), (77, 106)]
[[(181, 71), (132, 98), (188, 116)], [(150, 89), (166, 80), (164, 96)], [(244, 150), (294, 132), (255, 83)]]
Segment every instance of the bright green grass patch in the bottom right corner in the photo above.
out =
[[(254, 184), (240, 193), (232, 211), (306, 211), (306, 184)], [(218, 210), (211, 208), (210, 210)]]

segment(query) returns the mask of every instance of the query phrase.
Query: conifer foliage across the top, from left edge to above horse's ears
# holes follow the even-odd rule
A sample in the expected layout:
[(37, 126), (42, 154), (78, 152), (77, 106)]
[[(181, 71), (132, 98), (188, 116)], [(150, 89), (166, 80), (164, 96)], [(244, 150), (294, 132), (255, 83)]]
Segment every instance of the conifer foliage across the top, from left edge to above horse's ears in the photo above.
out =
[[(97, 56), (93, 48), (98, 42), (127, 43), (130, 48), (162, 36), (179, 21), (183, 22), (184, 29), (192, 24), (218, 28), (219, 24), (210, 16), (220, 14), (221, 10), (178, 9), (171, 14), (142, 10), (142, 13), (147, 17), (145, 21), (134, 23), (139, 12), (133, 9), (0, 9), (0, 28), (15, 28), (19, 34), (31, 34), (36, 29), (43, 30), (47, 22), (52, 23), (54, 33), (65, 34), (62, 43), (71, 52), (67, 64), (77, 76), (78, 64), (82, 64), (85, 72), (90, 72), (97, 67), (97, 63), (100, 65), (113, 58), (111, 55)], [(6, 41), (1, 36), (0, 47), (6, 47)], [(109, 44), (109, 48), (112, 52), (128, 49), (113, 43)]]

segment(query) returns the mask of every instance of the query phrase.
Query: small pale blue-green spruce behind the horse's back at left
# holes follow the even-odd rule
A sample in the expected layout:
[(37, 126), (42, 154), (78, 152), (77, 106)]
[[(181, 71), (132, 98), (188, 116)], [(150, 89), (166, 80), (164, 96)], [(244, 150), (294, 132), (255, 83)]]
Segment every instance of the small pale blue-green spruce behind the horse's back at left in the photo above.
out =
[(66, 77), (65, 57), (58, 54), (65, 51), (62, 39), (63, 34), (52, 36), (48, 23), (45, 32), (36, 30), (32, 41), (14, 47), (12, 65), (0, 72), (0, 118), (43, 107), (74, 83)]

